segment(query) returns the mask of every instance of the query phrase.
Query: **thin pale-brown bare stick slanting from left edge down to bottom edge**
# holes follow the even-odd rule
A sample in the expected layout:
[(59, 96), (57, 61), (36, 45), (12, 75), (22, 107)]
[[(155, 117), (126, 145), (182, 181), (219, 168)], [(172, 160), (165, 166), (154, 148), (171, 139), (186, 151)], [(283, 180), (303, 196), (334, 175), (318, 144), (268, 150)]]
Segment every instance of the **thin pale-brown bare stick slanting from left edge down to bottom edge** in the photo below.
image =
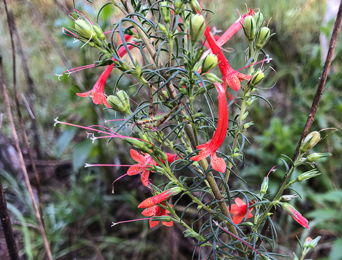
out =
[(37, 218), (37, 221), (38, 221), (38, 224), (39, 224), (39, 229), (40, 229), (42, 237), (43, 237), (44, 246), (45, 246), (46, 251), (47, 251), (48, 259), (52, 260), (52, 254), (51, 254), (51, 250), (50, 250), (50, 247), (49, 247), (49, 242), (48, 242), (48, 239), (46, 237), (44, 226), (43, 226), (43, 222), (42, 222), (42, 219), (40, 217), (39, 210), (38, 210), (38, 207), (37, 207), (34, 195), (33, 195), (32, 187), (31, 187), (31, 184), (30, 184), (30, 180), (29, 180), (29, 177), (28, 177), (28, 174), (27, 174), (27, 171), (26, 171), (26, 166), (25, 166), (24, 158), (23, 158), (22, 153), (21, 153), (21, 148), (20, 148), (20, 145), (19, 145), (18, 135), (17, 135), (17, 132), (15, 130), (15, 125), (14, 125), (14, 121), (13, 121), (11, 106), (9, 104), (9, 99), (8, 99), (8, 91), (7, 91), (7, 87), (6, 87), (6, 84), (5, 84), (5, 74), (4, 74), (4, 69), (3, 69), (3, 65), (2, 65), (2, 54), (1, 54), (1, 51), (0, 51), (0, 73), (1, 73), (1, 85), (2, 85), (2, 90), (3, 90), (5, 106), (6, 106), (6, 109), (7, 109), (8, 120), (9, 120), (9, 123), (11, 125), (11, 129), (12, 129), (13, 139), (14, 139), (15, 146), (16, 146), (16, 149), (17, 149), (17, 152), (18, 152), (18, 156), (19, 156), (19, 163), (20, 163), (21, 169), (22, 169), (22, 171), (24, 173), (26, 186), (27, 186), (28, 192), (29, 192), (30, 197), (31, 197), (33, 209), (34, 209), (34, 212), (36, 214), (36, 218)]

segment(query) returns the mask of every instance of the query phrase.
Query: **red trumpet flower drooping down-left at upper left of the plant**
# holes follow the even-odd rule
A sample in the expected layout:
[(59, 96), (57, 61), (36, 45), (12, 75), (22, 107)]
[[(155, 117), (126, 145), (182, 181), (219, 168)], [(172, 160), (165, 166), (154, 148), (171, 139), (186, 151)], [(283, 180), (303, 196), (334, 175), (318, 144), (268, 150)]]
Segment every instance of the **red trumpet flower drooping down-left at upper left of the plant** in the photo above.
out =
[[(134, 44), (137, 44), (137, 43), (134, 43)], [(129, 50), (132, 50), (132, 48), (133, 48), (133, 45), (128, 45)], [(127, 53), (127, 50), (124, 46), (122, 46), (118, 51), (118, 54), (120, 57), (122, 57), (126, 53)], [(116, 59), (114, 59), (114, 58), (112, 58), (112, 59), (114, 61), (116, 61)], [(88, 91), (85, 93), (76, 93), (76, 95), (84, 98), (84, 97), (87, 97), (89, 94), (92, 93), (94, 104), (105, 104), (107, 107), (111, 107), (108, 104), (107, 99), (106, 99), (105, 84), (106, 84), (106, 81), (109, 77), (109, 74), (112, 72), (112, 70), (113, 70), (113, 65), (108, 65), (106, 67), (105, 71), (101, 74), (100, 78), (95, 83), (95, 85), (91, 91)]]

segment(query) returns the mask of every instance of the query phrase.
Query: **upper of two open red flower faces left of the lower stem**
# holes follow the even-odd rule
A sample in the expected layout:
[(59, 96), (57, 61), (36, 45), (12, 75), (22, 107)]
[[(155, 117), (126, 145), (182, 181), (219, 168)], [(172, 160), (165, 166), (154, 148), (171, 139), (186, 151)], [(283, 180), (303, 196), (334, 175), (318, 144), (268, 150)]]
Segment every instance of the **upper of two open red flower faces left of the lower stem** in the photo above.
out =
[(141, 153), (139, 154), (137, 151), (131, 149), (130, 154), (133, 158), (133, 160), (139, 162), (133, 166), (130, 166), (127, 170), (128, 175), (135, 175), (138, 173), (141, 173), (141, 181), (144, 186), (147, 186), (149, 182), (149, 175), (150, 170), (147, 170), (146, 168), (149, 167), (149, 165), (158, 165), (158, 163), (148, 154)]

